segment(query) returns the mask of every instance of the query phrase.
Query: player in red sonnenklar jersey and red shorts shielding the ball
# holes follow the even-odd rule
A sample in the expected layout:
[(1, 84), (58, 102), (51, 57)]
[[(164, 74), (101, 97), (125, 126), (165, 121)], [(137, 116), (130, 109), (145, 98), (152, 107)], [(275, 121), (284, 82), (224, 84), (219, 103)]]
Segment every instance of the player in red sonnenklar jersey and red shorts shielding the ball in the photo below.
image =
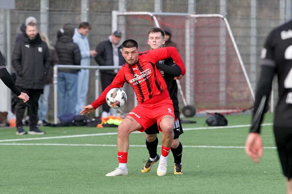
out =
[(163, 132), (161, 157), (157, 169), (157, 175), (163, 176), (166, 174), (167, 156), (174, 136), (174, 111), (166, 83), (155, 64), (159, 60), (171, 57), (180, 67), (182, 75), (185, 74), (185, 65), (175, 47), (139, 53), (138, 43), (131, 39), (123, 42), (122, 55), (126, 64), (121, 67), (113, 82), (91, 105), (83, 107), (84, 109), (80, 113), (82, 115), (91, 113), (105, 103), (105, 96), (110, 89), (123, 87), (125, 82), (131, 84), (139, 104), (127, 114), (118, 127), (119, 167), (106, 176), (128, 174), (129, 134), (135, 130), (143, 132), (154, 123), (157, 123), (158, 129)]

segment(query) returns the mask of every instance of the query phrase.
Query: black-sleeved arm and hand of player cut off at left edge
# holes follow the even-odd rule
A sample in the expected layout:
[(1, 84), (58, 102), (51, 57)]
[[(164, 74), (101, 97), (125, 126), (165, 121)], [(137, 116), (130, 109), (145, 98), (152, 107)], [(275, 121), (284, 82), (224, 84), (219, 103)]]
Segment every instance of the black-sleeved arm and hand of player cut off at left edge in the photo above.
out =
[(16, 87), (13, 78), (11, 77), (10, 73), (6, 69), (6, 64), (4, 61), (4, 57), (2, 56), (2, 53), (0, 51), (0, 79), (3, 81), (3, 83), (11, 89), (14, 94), (23, 100), (23, 102), (27, 102), (29, 100), (29, 96), (27, 94), (20, 92), (19, 89)]

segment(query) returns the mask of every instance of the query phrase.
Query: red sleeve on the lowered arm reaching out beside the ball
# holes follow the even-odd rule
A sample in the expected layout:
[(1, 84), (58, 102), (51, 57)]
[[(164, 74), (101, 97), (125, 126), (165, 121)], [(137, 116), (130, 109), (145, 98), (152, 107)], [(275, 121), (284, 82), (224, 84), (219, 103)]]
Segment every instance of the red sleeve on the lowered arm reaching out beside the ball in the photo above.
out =
[(107, 92), (109, 92), (109, 90), (113, 88), (123, 87), (125, 82), (126, 81), (124, 80), (124, 68), (122, 67), (118, 71), (116, 77), (114, 77), (114, 80), (112, 81), (112, 83), (109, 84), (109, 86), (105, 88), (105, 90), (100, 94), (100, 96), (96, 100), (94, 100), (93, 103), (91, 103), (91, 106), (94, 109), (97, 109), (98, 107), (100, 107), (103, 103), (106, 102), (105, 98), (106, 98)]

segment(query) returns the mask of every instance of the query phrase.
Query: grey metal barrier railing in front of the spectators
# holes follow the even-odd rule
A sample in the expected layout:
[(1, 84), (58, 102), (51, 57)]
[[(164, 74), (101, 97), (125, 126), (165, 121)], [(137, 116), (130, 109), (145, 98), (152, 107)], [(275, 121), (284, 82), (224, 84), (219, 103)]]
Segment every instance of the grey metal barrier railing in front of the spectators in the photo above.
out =
[[(95, 98), (99, 96), (99, 74), (100, 70), (115, 70), (121, 66), (80, 66), (80, 65), (55, 65), (54, 66), (54, 124), (57, 124), (58, 119), (58, 69), (95, 69)], [(98, 110), (95, 111), (95, 116), (99, 116)]]

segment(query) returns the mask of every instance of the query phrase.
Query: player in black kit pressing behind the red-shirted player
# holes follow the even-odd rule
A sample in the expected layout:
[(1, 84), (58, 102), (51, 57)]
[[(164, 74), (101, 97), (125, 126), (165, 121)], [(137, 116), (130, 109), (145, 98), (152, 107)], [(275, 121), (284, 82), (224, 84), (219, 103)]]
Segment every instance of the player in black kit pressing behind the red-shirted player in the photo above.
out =
[[(164, 31), (160, 28), (154, 27), (149, 30), (147, 43), (150, 46), (151, 50), (162, 47), (162, 45), (165, 43), (164, 35)], [(175, 80), (181, 79), (181, 70), (171, 58), (157, 62), (156, 66), (160, 70), (166, 82), (169, 96), (173, 102), (174, 107), (175, 126), (173, 129), (173, 142), (171, 144), (171, 152), (173, 153), (174, 157), (174, 174), (183, 174), (181, 165), (183, 146), (179, 140), (179, 135), (183, 133), (183, 129), (181, 127), (180, 113), (178, 107), (178, 86)], [(150, 128), (147, 128), (145, 130), (145, 133), (146, 146), (149, 151), (150, 157), (147, 161), (145, 161), (145, 164), (143, 165), (141, 170), (142, 173), (149, 172), (153, 164), (159, 160), (159, 155), (157, 154), (157, 133), (159, 133), (157, 129), (157, 124), (154, 124)]]

